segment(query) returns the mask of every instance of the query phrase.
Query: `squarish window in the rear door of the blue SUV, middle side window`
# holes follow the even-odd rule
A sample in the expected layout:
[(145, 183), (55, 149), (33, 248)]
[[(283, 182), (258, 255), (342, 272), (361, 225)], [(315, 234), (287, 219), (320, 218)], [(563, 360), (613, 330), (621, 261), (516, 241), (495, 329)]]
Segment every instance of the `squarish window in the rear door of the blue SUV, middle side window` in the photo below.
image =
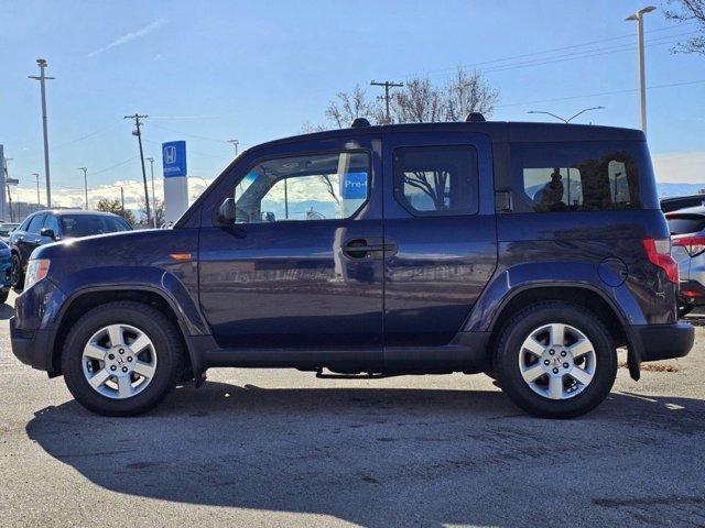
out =
[(394, 150), (394, 198), (417, 217), (475, 215), (477, 151), (473, 146)]

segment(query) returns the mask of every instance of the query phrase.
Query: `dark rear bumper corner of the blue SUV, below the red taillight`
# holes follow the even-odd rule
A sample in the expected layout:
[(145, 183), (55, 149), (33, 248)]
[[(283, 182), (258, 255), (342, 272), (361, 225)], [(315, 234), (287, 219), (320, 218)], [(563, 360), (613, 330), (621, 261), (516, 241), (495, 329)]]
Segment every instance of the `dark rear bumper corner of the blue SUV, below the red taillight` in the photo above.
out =
[(695, 330), (687, 322), (636, 324), (631, 327), (641, 361), (683, 358), (693, 348)]

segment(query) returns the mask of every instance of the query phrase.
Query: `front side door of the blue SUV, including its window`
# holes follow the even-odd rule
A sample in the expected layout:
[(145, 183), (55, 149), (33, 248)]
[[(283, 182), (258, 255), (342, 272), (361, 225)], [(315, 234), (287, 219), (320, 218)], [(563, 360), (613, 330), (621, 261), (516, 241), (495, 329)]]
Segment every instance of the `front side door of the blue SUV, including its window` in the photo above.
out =
[[(379, 138), (350, 134), (254, 150), (221, 178), (199, 241), (200, 305), (220, 346), (381, 354), (380, 160)], [(216, 227), (228, 197), (236, 222)]]

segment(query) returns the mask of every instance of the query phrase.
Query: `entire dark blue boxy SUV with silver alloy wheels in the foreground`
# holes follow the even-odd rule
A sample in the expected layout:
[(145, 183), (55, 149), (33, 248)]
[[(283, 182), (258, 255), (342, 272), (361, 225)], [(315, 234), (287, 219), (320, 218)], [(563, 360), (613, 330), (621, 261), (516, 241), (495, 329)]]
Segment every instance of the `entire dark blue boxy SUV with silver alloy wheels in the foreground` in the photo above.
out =
[(354, 124), (241, 153), (173, 229), (36, 250), (14, 354), (104, 415), (237, 366), (486, 372), (565, 418), (618, 346), (634, 380), (690, 351), (642, 132)]

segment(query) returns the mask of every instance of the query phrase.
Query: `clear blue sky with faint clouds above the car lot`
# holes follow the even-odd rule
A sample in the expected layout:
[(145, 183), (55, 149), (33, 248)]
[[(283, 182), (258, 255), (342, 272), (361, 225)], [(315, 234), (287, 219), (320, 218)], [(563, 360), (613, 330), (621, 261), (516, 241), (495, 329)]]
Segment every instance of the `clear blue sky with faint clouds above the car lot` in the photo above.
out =
[[(82, 187), (80, 166), (91, 187), (140, 177), (128, 113), (150, 114), (147, 155), (159, 158), (161, 142), (184, 139), (189, 173), (209, 179), (232, 156), (228, 139), (248, 146), (295, 134), (304, 121), (325, 121), (337, 91), (425, 73), (443, 82), (458, 65), (477, 65), (500, 90), (494, 119), (601, 105), (583, 122), (638, 127), (636, 92), (619, 91), (637, 85), (636, 29), (623, 19), (644, 4), (8, 2), (0, 143), (13, 158), (11, 176), (31, 189), (29, 175), (43, 174), (39, 84), (26, 78), (36, 75), (37, 57), (56, 77), (47, 89), (57, 188)], [(648, 85), (699, 82), (649, 90), (651, 151), (660, 179), (705, 182), (705, 57), (671, 53), (694, 26), (674, 26), (657, 6), (646, 24)], [(539, 53), (555, 48), (564, 50)], [(618, 94), (595, 95), (603, 92)]]

